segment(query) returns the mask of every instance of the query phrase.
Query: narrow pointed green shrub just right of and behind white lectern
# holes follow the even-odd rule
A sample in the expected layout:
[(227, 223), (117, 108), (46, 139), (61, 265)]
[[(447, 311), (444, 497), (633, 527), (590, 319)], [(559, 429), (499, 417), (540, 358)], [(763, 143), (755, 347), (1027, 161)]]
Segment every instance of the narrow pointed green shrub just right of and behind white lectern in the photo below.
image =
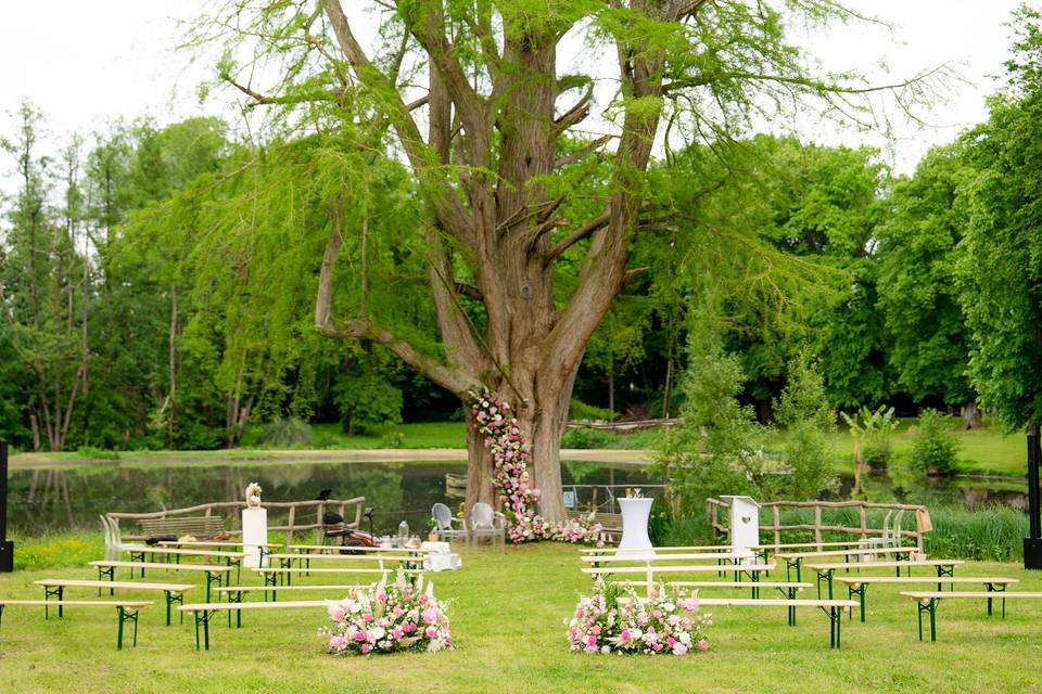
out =
[(838, 485), (830, 435), (836, 413), (814, 364), (801, 357), (789, 369), (788, 383), (775, 406), (777, 423), (786, 430), (782, 460), (788, 468), (785, 496), (797, 501), (817, 499)]

